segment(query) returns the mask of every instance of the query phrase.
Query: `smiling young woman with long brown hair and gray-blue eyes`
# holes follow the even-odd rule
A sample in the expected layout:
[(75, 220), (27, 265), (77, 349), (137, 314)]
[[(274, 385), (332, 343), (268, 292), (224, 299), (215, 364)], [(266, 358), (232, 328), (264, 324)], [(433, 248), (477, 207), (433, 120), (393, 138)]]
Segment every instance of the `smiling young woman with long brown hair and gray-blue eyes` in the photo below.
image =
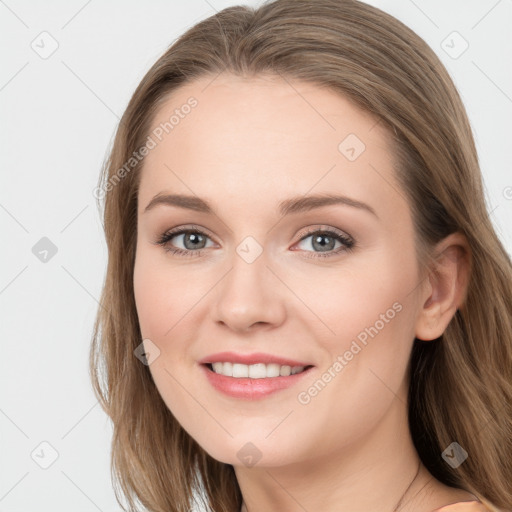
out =
[(91, 372), (131, 510), (512, 507), (510, 259), (402, 23), (208, 18), (138, 86), (98, 190)]

